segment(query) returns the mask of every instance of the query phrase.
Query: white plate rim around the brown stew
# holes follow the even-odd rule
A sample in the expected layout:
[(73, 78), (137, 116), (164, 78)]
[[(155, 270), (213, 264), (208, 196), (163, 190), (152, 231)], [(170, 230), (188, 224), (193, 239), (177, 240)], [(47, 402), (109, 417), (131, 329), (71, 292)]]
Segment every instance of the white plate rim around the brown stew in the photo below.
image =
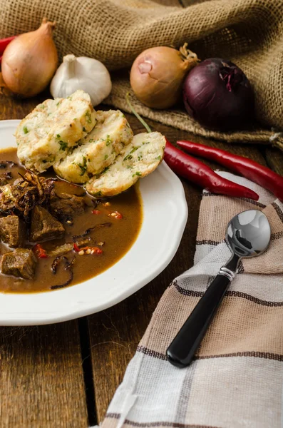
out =
[[(0, 148), (16, 146), (19, 121), (0, 121)], [(161, 163), (140, 180), (143, 225), (122, 259), (100, 275), (63, 290), (0, 292), (0, 325), (38, 325), (72, 320), (115, 305), (148, 284), (170, 263), (187, 221), (182, 183)]]

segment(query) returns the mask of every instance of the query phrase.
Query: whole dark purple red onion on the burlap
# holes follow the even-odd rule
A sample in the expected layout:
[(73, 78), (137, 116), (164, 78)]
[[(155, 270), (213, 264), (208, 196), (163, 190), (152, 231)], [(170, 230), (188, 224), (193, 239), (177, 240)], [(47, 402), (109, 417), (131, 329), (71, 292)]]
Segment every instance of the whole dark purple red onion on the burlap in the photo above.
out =
[(254, 116), (254, 93), (247, 76), (222, 58), (206, 59), (190, 71), (183, 100), (187, 113), (210, 129), (245, 128)]

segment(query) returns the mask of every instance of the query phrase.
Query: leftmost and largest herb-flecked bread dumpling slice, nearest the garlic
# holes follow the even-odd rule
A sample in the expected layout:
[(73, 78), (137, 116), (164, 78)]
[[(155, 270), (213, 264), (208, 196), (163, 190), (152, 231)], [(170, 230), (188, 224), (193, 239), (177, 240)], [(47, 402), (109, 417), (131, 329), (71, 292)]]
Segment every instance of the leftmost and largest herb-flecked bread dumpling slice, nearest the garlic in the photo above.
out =
[(29, 170), (42, 173), (66, 157), (96, 125), (91, 98), (76, 91), (68, 98), (46, 100), (34, 108), (16, 129), (18, 157)]

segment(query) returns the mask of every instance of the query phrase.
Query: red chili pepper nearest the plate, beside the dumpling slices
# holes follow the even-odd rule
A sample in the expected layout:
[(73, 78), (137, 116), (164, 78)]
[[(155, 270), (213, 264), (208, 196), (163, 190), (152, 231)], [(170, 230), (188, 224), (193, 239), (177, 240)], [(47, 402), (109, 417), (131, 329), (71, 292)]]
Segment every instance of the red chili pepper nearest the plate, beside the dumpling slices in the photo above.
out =
[(259, 199), (259, 195), (253, 190), (217, 175), (212, 168), (180, 151), (168, 140), (166, 140), (164, 159), (176, 174), (210, 192), (236, 196), (237, 198)]

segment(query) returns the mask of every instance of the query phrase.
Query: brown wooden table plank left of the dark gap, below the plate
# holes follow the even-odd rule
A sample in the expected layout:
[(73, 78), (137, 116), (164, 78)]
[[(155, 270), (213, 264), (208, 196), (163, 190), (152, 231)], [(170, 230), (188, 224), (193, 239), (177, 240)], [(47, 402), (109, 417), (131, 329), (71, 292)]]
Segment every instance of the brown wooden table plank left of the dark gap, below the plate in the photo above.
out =
[[(0, 120), (23, 118), (48, 93), (0, 95)], [(78, 322), (0, 328), (1, 427), (88, 427)]]

